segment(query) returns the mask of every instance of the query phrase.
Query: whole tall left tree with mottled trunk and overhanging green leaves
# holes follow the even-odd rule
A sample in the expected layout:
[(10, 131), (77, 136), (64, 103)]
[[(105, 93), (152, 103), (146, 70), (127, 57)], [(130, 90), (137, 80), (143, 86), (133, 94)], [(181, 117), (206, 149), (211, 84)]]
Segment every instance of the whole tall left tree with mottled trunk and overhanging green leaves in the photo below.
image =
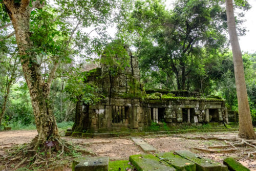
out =
[(90, 38), (82, 28), (100, 24), (103, 25), (101, 28), (106, 28), (115, 1), (56, 1), (59, 9), (51, 9), (45, 5), (46, 1), (40, 0), (0, 2), (15, 30), (18, 54), (31, 97), (38, 132), (31, 146), (37, 149), (49, 139), (61, 145), (50, 99), (56, 70), (60, 62), (70, 61), (72, 54), (88, 46)]

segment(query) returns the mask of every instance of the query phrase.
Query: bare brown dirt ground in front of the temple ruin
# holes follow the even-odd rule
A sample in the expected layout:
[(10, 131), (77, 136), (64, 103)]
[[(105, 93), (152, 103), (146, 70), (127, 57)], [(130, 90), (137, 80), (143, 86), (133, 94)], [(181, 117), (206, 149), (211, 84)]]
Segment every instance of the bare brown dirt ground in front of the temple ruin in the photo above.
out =
[[(233, 153), (202, 153), (193, 149), (193, 147), (206, 148), (207, 146), (225, 145), (224, 141), (218, 140), (200, 140), (200, 139), (187, 139), (187, 137), (210, 135), (220, 137), (231, 137), (236, 135), (237, 132), (231, 133), (208, 133), (208, 134), (179, 134), (179, 135), (159, 135), (159, 136), (145, 136), (141, 137), (145, 142), (153, 145), (159, 152), (169, 152), (176, 150), (189, 150), (197, 153), (203, 157), (208, 157), (220, 163), (227, 156), (236, 158), (243, 165), (250, 170), (256, 171), (256, 160), (248, 159), (243, 153), (255, 151), (248, 146), (241, 146), (239, 150)], [(0, 157), (5, 155), (5, 148), (14, 144), (29, 143), (34, 136), (37, 135), (36, 131), (7, 131), (0, 132)], [(123, 138), (75, 138), (75, 137), (62, 137), (71, 141), (79, 146), (87, 148), (89, 151), (96, 153), (98, 156), (109, 156), (110, 160), (128, 160), (129, 156), (135, 154), (143, 154), (143, 151), (132, 140), (131, 137)], [(68, 169), (70, 170), (70, 169)]]

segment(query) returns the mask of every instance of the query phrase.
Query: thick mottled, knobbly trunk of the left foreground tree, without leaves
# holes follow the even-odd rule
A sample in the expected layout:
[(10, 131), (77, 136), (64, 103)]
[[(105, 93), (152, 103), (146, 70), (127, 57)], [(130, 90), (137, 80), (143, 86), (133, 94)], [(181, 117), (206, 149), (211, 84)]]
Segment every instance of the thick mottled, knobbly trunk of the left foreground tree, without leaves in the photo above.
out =
[[(31, 1), (34, 8), (41, 7), (40, 2)], [(20, 4), (14, 0), (4, 0), (4, 4), (11, 18), (15, 30), (18, 53), (22, 62), (22, 68), (28, 84), (32, 102), (35, 123), (38, 135), (35, 137), (34, 149), (44, 145), (46, 140), (59, 139), (57, 124), (50, 108), (51, 81), (42, 80), (40, 68), (37, 64), (36, 55), (33, 54), (32, 41), (30, 40), (29, 20), (32, 7), (30, 0), (22, 0)]]

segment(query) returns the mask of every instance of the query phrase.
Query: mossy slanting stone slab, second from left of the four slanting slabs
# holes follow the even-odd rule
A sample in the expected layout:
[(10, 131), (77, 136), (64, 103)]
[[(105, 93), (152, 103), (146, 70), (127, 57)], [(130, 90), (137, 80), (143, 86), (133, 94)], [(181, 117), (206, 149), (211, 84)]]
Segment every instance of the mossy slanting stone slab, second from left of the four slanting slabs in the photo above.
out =
[(187, 171), (196, 171), (197, 167), (196, 164), (180, 157), (179, 155), (175, 155), (173, 152), (168, 153), (160, 153), (156, 154), (156, 156), (169, 165), (172, 165), (176, 170), (187, 170)]

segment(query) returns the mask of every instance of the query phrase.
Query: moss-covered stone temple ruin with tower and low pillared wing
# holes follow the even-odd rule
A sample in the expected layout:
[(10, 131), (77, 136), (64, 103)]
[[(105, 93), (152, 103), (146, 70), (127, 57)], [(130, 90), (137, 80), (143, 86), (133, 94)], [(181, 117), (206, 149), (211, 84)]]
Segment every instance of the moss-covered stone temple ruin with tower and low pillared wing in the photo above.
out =
[[(167, 125), (228, 122), (222, 99), (201, 98), (198, 92), (144, 90), (137, 57), (129, 48), (124, 48), (129, 57), (116, 55), (111, 57), (111, 61), (122, 63), (128, 60), (129, 66), (122, 70), (118, 65), (111, 68), (101, 62), (101, 68), (90, 71), (87, 81), (96, 85), (98, 94), (105, 98), (90, 106), (77, 104), (77, 113), (83, 119), (76, 117), (75, 125), (83, 122), (83, 128), (79, 130), (74, 125), (72, 131), (142, 131), (152, 122), (165, 122)], [(103, 55), (101, 60), (104, 58), (107, 57)]]

